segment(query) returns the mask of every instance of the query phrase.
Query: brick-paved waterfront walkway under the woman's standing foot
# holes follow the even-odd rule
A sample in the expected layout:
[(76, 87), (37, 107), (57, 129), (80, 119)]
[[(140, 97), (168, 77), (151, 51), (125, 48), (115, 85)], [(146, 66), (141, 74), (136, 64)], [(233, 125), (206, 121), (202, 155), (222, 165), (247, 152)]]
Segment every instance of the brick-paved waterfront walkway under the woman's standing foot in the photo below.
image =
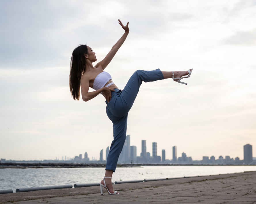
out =
[(120, 195), (100, 195), (100, 187), (54, 189), (0, 195), (0, 203), (255, 203), (256, 171), (115, 184)]

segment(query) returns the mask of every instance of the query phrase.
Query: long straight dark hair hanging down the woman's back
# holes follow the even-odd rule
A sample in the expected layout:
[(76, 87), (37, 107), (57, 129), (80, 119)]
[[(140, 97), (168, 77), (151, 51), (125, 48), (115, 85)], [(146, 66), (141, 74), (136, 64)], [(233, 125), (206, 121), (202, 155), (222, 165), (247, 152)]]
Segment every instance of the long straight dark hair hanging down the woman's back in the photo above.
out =
[(80, 98), (81, 76), (85, 71), (87, 53), (86, 45), (79, 45), (74, 49), (70, 61), (69, 89), (74, 100)]

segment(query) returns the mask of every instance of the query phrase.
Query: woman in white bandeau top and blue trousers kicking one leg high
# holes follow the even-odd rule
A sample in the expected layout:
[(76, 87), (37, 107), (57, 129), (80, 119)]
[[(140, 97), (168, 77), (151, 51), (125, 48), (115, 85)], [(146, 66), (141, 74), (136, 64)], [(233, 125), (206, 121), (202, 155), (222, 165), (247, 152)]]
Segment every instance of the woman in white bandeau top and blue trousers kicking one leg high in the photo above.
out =
[[(102, 195), (103, 187), (107, 189), (109, 194), (119, 194), (113, 189), (111, 177), (113, 172), (115, 172), (117, 160), (126, 139), (128, 111), (132, 107), (139, 92), (142, 81), (149, 82), (172, 78), (174, 81), (187, 84), (180, 80), (189, 77), (192, 71), (192, 69), (188, 71), (160, 71), (160, 69), (153, 71), (137, 70), (130, 77), (124, 90), (119, 90), (111, 80), (109, 73), (104, 71), (129, 33), (129, 22), (126, 26), (120, 20), (118, 20), (118, 23), (125, 32), (102, 61), (96, 64), (96, 66), (93, 66), (92, 63), (97, 59), (92, 48), (87, 45), (80, 45), (73, 51), (70, 63), (69, 87), (74, 100), (79, 100), (80, 98), (80, 87), (84, 101), (91, 100), (102, 94), (106, 98), (107, 116), (113, 123), (114, 140), (109, 149), (105, 177), (100, 182)], [(95, 89), (95, 91), (89, 92), (89, 87)]]

